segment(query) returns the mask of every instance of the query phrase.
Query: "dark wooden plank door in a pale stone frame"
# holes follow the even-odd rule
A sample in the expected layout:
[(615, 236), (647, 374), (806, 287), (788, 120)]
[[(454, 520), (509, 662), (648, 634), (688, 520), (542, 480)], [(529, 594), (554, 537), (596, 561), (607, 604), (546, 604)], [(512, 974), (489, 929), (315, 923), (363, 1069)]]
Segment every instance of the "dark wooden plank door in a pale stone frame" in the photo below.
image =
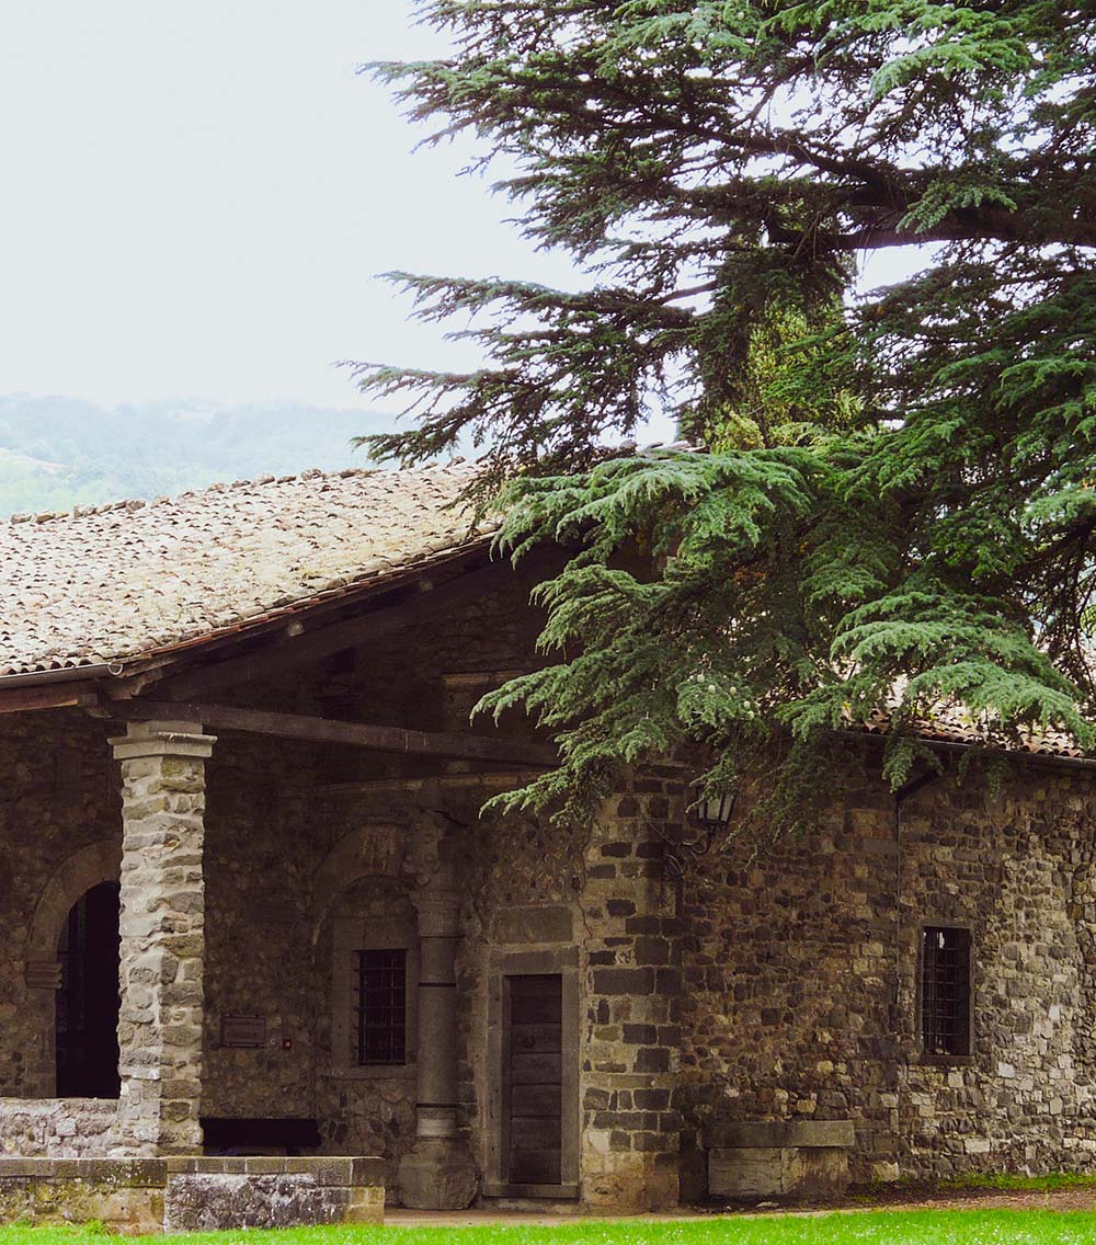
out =
[(507, 979), (506, 1159), (509, 1184), (559, 1184), (563, 979)]

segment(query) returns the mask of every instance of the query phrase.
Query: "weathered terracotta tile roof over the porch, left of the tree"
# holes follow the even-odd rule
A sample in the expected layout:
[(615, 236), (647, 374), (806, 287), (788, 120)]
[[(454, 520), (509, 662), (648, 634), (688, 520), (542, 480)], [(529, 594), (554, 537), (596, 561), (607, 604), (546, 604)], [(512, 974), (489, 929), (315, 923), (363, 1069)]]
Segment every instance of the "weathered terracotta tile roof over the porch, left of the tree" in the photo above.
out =
[(0, 523), (0, 675), (148, 655), (486, 540), (473, 464), (311, 471)]

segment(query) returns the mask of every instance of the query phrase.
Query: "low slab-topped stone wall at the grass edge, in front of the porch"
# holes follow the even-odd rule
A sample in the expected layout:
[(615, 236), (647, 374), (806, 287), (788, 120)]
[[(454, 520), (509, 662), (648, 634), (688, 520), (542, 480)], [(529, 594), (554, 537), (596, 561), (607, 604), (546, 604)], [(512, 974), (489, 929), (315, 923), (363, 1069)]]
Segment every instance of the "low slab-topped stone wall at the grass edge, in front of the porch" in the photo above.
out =
[(382, 1223), (379, 1158), (0, 1158), (0, 1221), (126, 1233)]

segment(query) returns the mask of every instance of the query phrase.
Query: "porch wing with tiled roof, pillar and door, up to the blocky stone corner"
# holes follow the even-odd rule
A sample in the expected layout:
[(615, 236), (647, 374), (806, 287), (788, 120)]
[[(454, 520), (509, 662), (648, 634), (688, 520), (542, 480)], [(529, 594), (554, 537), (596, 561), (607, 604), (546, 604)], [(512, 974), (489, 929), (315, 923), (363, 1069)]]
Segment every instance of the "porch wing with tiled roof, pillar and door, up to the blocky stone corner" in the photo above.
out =
[(0, 636), (0, 1153), (298, 1149), (380, 1155), (410, 1206), (676, 1201), (655, 828), (681, 774), (597, 825), (481, 817), (554, 758), (519, 717), (468, 725), (541, 660), (549, 568), (492, 560), (466, 482), (0, 533), (44, 585)]

